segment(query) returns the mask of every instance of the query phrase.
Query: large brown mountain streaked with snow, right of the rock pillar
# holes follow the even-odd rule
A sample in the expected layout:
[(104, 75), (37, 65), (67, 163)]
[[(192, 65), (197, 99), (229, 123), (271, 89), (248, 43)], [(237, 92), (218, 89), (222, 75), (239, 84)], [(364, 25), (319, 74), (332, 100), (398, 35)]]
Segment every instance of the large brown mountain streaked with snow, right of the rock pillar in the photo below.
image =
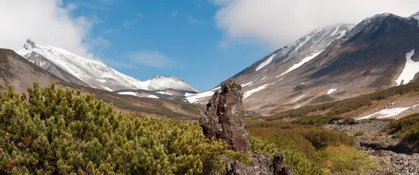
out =
[[(231, 78), (242, 83), (244, 107), (263, 114), (406, 84), (419, 76), (418, 14), (319, 29)], [(186, 98), (204, 104), (214, 91)]]

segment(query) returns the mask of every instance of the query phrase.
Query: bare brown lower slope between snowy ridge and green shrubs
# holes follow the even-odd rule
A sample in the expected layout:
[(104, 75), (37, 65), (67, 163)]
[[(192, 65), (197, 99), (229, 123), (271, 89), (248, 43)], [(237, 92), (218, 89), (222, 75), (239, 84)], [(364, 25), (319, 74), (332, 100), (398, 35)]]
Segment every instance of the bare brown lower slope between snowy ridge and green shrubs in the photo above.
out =
[[(57, 68), (55, 70), (59, 69)], [(68, 77), (71, 78), (71, 76)], [(27, 91), (27, 87), (32, 86), (34, 81), (37, 81), (41, 87), (54, 82), (57, 86), (63, 86), (64, 88), (70, 87), (80, 89), (82, 93), (93, 93), (100, 100), (112, 102), (119, 111), (134, 112), (142, 116), (190, 120), (198, 119), (203, 112), (203, 109), (200, 107), (186, 102), (179, 102), (183, 100), (179, 96), (184, 91), (175, 91), (172, 89), (156, 92), (135, 90), (142, 91), (143, 94), (149, 94), (148, 96), (143, 96), (145, 98), (141, 98), (124, 96), (124, 94), (94, 89), (89, 86), (80, 86), (79, 84), (69, 83), (52, 75), (47, 70), (27, 61), (27, 59), (24, 59), (13, 50), (0, 49), (0, 90), (6, 89), (8, 86), (13, 86), (15, 91), (19, 93), (25, 92)], [(163, 95), (161, 93), (170, 93), (173, 96)], [(161, 99), (154, 99), (154, 96), (150, 97), (152, 94), (159, 96)]]

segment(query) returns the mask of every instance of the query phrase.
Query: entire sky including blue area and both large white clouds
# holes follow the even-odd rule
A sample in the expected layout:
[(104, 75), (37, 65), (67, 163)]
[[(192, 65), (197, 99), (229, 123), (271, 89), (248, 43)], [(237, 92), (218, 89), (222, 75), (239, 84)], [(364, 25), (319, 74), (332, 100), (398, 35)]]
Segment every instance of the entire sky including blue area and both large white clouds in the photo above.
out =
[(0, 47), (27, 38), (147, 80), (177, 76), (200, 90), (310, 31), (378, 13), (403, 17), (417, 0), (0, 0)]

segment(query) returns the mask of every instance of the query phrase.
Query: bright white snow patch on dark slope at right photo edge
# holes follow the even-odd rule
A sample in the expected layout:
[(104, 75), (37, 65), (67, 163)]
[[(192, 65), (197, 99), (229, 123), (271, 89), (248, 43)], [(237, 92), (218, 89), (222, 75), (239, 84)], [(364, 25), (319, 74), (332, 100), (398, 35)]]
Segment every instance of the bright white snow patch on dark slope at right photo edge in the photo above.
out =
[(406, 65), (402, 71), (402, 74), (396, 79), (397, 85), (408, 84), (419, 72), (419, 62), (413, 61), (411, 58), (415, 54), (415, 50), (411, 50), (406, 54)]

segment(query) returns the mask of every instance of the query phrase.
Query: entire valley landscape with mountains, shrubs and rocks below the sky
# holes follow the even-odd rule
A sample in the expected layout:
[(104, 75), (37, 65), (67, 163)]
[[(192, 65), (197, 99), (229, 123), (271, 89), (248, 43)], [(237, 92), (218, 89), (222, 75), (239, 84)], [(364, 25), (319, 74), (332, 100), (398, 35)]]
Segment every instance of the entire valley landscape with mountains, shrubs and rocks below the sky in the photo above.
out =
[(207, 91), (22, 46), (0, 49), (0, 174), (419, 174), (419, 12), (314, 29)]

